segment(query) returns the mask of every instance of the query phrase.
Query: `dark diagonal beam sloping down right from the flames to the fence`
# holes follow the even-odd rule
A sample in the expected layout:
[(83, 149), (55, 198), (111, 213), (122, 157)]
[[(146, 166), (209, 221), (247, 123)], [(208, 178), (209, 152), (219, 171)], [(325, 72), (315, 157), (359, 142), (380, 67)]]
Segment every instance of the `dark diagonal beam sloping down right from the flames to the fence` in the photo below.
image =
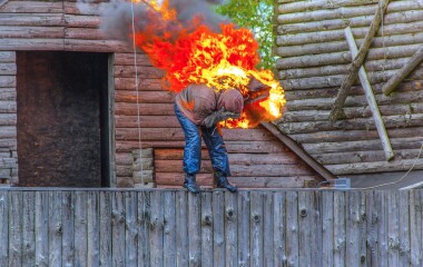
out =
[(275, 125), (269, 122), (262, 122), (262, 126), (272, 132), (277, 139), (279, 139), (286, 147), (288, 147), (294, 154), (304, 160), (313, 170), (315, 170), (322, 180), (335, 179), (336, 177), (328, 171), (324, 166), (317, 162), (312, 156), (309, 156), (303, 147), (301, 147), (291, 137), (283, 134)]

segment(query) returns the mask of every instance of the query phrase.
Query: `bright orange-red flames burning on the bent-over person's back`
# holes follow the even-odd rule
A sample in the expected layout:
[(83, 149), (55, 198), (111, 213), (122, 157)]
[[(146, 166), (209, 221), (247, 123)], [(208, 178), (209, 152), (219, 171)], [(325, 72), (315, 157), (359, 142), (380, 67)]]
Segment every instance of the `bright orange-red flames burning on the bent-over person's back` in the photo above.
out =
[(258, 43), (252, 31), (229, 23), (220, 24), (220, 32), (215, 32), (201, 23), (200, 16), (193, 19), (191, 27), (183, 27), (168, 0), (161, 4), (137, 1), (146, 4), (151, 23), (134, 38), (151, 63), (165, 70), (165, 89), (178, 92), (190, 83), (206, 83), (216, 91), (236, 88), (248, 98), (247, 83), (255, 77), (270, 88), (269, 96), (246, 105), (239, 119), (222, 125), (249, 128), (282, 116), (284, 90), (272, 71), (255, 68), (259, 62)]

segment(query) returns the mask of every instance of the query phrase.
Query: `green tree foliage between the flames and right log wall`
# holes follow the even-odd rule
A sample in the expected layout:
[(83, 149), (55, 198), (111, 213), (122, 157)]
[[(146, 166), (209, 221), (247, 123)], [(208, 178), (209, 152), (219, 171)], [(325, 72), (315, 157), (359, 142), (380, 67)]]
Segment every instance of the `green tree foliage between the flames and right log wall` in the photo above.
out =
[(254, 32), (259, 43), (262, 59), (258, 67), (265, 69), (275, 67), (277, 57), (273, 55), (274, 0), (227, 0), (226, 3), (217, 6), (216, 11), (230, 18), (237, 26)]

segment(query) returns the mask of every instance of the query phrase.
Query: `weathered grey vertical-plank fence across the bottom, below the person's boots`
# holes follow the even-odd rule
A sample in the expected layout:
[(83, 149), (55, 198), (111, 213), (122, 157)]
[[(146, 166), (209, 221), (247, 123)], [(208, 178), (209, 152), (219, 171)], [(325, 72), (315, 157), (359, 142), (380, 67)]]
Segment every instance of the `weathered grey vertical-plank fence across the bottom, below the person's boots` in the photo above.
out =
[(422, 266), (423, 190), (0, 189), (0, 266)]

